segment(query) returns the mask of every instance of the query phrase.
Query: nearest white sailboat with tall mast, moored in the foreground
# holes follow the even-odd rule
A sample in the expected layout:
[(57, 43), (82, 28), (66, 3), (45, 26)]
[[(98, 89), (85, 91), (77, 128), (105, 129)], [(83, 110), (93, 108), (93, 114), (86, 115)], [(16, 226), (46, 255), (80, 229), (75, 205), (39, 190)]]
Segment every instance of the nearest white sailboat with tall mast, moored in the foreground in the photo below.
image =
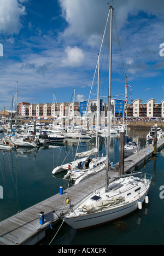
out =
[[(107, 165), (106, 184), (84, 197), (77, 205), (63, 217), (72, 228), (79, 230), (95, 225), (104, 224), (114, 219), (121, 218), (142, 208), (144, 200), (148, 202), (148, 191), (151, 176), (135, 177), (134, 174), (114, 177), (109, 184), (109, 139), (110, 139), (110, 102), (111, 102), (111, 77), (112, 77), (112, 20), (113, 7), (110, 6), (110, 64), (109, 64), (109, 90), (108, 90), (108, 140), (107, 140)], [(109, 17), (108, 14), (108, 17)]]

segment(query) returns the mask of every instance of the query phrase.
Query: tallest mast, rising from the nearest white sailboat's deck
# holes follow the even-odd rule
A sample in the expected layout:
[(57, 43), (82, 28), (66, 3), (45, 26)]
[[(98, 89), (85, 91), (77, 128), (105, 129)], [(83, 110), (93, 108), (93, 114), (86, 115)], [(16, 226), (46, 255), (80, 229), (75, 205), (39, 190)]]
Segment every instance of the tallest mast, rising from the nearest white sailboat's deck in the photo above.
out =
[(106, 191), (108, 191), (110, 168), (109, 143), (110, 143), (110, 112), (111, 112), (111, 83), (112, 83), (112, 27), (113, 27), (113, 7), (110, 6), (110, 55), (109, 55), (109, 89), (108, 89), (108, 137), (107, 137), (107, 167), (106, 167)]

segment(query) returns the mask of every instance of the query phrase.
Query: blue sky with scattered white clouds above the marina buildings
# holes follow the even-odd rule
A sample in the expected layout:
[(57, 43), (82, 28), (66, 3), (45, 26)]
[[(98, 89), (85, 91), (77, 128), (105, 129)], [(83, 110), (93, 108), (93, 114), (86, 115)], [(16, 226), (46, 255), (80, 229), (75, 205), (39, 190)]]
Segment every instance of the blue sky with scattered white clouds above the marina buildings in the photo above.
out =
[[(163, 0), (0, 0), (0, 5), (0, 110), (10, 110), (13, 98), (16, 104), (16, 88), (18, 103), (53, 103), (54, 95), (58, 103), (69, 103), (74, 89), (77, 102), (95, 99), (97, 74), (93, 78), (110, 5), (112, 96), (124, 98), (127, 76), (128, 102), (163, 100)], [(104, 101), (108, 41), (107, 33), (100, 54)]]

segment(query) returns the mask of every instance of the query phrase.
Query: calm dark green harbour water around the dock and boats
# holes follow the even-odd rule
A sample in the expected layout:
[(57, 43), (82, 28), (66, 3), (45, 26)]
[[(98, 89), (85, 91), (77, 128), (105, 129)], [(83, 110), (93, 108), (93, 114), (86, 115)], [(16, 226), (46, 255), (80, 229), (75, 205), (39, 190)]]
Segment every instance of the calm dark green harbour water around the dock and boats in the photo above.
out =
[[(131, 131), (131, 136), (143, 148), (146, 145), (148, 130)], [(79, 151), (90, 150), (95, 138), (80, 143)], [(68, 181), (61, 175), (53, 176), (52, 170), (62, 164), (68, 155), (68, 161), (74, 160), (77, 141), (67, 140), (61, 144), (27, 149), (19, 148), (11, 152), (0, 152), (0, 221), (19, 211), (59, 193), (62, 185), (67, 189)], [(99, 152), (105, 149), (104, 138), (99, 138)], [(104, 152), (105, 154), (105, 152)], [(110, 138), (110, 160), (119, 161), (119, 136)], [(75, 231), (63, 224), (51, 245), (163, 245), (164, 244), (164, 149), (142, 167), (143, 172), (153, 175), (149, 190), (149, 204), (142, 210), (130, 214), (116, 222), (96, 228)], [(163, 188), (162, 188), (163, 186)], [(164, 191), (164, 190), (163, 190)], [(53, 206), (52, 206), (53, 207)], [(39, 221), (39, 220), (38, 220)], [(58, 226), (48, 230), (41, 245), (49, 245)]]

